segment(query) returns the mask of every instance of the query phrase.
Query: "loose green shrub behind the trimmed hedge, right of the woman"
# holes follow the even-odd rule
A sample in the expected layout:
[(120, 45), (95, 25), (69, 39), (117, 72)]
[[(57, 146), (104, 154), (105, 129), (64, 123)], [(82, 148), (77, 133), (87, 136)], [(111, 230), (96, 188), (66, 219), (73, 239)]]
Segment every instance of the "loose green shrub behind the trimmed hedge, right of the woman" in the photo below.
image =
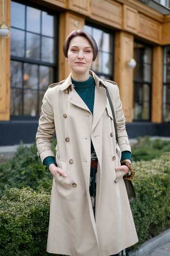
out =
[(151, 137), (138, 137), (138, 142), (132, 146), (132, 160), (150, 161), (159, 158), (162, 153), (170, 152), (170, 141), (166, 140), (151, 140)]

